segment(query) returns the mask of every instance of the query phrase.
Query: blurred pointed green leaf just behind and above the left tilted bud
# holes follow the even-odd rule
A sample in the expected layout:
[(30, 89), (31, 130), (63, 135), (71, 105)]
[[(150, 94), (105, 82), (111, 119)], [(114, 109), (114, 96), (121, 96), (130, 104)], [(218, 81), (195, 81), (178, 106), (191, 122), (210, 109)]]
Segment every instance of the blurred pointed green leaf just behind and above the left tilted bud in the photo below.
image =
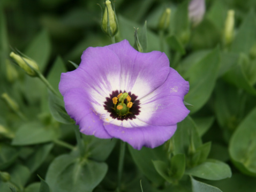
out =
[(50, 58), (51, 45), (46, 30), (42, 30), (25, 51), (25, 55), (35, 60), (41, 72), (46, 68)]

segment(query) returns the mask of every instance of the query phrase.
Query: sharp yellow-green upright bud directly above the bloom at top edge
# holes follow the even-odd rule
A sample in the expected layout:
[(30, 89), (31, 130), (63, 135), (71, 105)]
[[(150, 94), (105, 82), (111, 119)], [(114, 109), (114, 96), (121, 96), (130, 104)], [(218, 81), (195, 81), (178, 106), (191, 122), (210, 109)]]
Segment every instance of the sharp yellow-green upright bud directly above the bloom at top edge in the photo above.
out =
[(110, 37), (115, 36), (115, 34), (117, 33), (116, 13), (112, 9), (112, 5), (109, 0), (106, 1), (106, 8), (102, 17), (101, 27), (103, 32)]

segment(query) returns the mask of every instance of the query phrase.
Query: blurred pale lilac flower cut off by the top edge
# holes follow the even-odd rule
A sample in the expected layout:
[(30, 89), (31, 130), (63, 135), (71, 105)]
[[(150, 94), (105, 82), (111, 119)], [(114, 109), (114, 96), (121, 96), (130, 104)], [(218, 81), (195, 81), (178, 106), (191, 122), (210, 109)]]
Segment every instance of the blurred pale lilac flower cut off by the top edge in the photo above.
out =
[(205, 15), (205, 0), (192, 0), (189, 4), (189, 18), (193, 25), (198, 25)]

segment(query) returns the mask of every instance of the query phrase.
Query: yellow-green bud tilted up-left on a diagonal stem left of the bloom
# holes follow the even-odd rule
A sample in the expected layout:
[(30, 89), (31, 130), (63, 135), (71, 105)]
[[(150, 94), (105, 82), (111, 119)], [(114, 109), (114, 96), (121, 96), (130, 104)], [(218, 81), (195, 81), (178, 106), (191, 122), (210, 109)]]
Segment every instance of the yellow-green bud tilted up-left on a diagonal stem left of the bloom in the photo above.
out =
[(11, 52), (10, 57), (30, 76), (36, 76), (35, 70), (39, 70), (38, 65), (30, 59), (21, 57), (14, 52)]

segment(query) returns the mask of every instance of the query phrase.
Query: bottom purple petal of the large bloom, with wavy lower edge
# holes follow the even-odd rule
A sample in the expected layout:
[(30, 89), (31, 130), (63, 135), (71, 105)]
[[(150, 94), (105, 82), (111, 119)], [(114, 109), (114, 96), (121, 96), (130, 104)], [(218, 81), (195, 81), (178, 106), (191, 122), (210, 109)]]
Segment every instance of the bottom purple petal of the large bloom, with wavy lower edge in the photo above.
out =
[(145, 126), (126, 128), (104, 123), (109, 135), (121, 139), (134, 149), (140, 150), (143, 146), (155, 148), (169, 140), (174, 135), (177, 125), (170, 126)]

